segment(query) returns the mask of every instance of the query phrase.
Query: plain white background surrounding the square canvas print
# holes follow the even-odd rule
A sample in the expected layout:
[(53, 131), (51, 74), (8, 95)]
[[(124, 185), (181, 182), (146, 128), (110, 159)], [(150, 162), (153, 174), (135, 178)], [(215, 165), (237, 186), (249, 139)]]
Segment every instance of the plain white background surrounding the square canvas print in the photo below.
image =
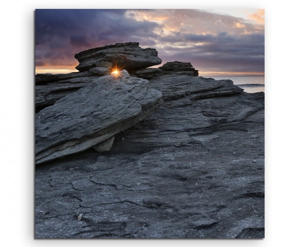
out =
[[(295, 0), (20, 1), (0, 7), (2, 246), (299, 246), (299, 4)], [(265, 239), (34, 240), (34, 9), (265, 8)]]

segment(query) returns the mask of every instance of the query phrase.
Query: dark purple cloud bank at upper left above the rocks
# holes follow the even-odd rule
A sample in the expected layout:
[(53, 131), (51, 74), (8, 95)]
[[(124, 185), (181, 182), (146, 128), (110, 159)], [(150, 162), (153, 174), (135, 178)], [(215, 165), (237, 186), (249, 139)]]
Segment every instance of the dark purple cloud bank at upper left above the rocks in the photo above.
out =
[[(36, 64), (75, 65), (74, 54), (91, 47), (156, 38), (155, 22), (124, 16), (124, 9), (35, 10)], [(147, 42), (145, 42), (147, 43)], [(153, 42), (149, 42), (153, 44)], [(50, 53), (49, 53), (50, 52)]]

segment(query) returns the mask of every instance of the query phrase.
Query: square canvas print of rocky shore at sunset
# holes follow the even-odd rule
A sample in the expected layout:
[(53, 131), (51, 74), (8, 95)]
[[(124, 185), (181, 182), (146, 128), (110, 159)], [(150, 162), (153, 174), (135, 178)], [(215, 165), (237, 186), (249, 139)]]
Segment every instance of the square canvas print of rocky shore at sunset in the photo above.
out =
[(263, 238), (264, 10), (36, 9), (35, 238)]

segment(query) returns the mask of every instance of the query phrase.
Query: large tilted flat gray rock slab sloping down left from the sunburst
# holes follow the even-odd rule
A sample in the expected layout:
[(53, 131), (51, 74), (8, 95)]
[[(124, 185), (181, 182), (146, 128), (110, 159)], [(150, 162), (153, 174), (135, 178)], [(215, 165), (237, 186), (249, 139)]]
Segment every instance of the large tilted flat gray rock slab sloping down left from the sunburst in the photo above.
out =
[(85, 150), (145, 118), (162, 102), (161, 92), (148, 84), (122, 70), (36, 113), (36, 164)]

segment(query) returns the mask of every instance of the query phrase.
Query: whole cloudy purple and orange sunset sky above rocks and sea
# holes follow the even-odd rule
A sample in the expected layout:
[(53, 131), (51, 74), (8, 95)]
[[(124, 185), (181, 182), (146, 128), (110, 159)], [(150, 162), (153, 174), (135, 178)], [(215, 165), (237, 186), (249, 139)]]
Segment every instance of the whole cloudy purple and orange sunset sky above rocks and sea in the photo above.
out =
[(36, 9), (35, 72), (77, 71), (74, 54), (139, 42), (201, 76), (264, 75), (263, 9)]

